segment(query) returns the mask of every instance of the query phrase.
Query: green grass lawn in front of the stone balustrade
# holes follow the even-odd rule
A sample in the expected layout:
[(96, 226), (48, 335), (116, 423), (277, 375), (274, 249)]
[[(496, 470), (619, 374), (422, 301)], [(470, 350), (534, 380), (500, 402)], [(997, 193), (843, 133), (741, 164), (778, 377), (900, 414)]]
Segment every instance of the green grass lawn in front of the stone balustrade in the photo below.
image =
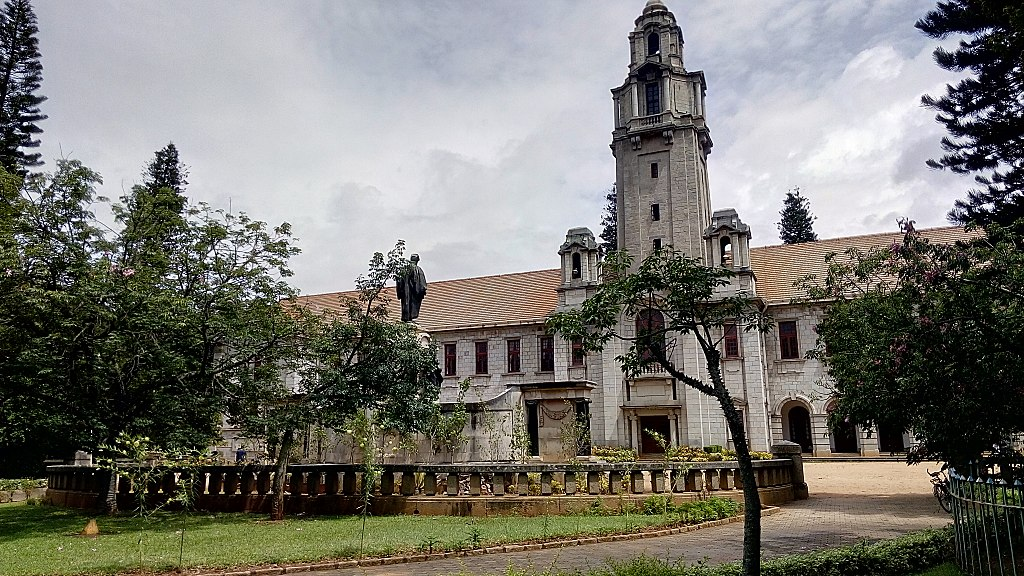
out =
[[(3, 576), (115, 573), (142, 566), (178, 565), (181, 519), (157, 513), (148, 522), (130, 517), (98, 517), (100, 535), (78, 536), (87, 515), (24, 502), (0, 505), (0, 574)], [(546, 518), (368, 518), (366, 556), (433, 551), (521, 542), (578, 534), (628, 532), (671, 522), (672, 516), (573, 516)], [(358, 517), (288, 519), (271, 523), (262, 516), (197, 515), (186, 519), (184, 567), (227, 567), (298, 563), (359, 556)]]

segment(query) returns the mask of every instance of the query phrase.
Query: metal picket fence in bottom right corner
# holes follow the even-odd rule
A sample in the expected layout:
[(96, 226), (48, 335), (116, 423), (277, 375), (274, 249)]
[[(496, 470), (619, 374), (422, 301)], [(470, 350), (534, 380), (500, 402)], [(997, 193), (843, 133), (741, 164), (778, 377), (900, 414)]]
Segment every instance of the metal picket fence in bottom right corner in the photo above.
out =
[(949, 469), (956, 562), (972, 576), (1024, 576), (1024, 466)]

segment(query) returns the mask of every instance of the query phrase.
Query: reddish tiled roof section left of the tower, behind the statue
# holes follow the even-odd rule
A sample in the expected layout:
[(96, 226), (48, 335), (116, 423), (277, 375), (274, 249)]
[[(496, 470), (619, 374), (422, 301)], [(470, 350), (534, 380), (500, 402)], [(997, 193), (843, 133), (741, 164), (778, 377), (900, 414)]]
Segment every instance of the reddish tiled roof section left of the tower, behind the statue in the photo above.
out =
[[(543, 322), (558, 304), (555, 289), (560, 280), (557, 269), (438, 282), (428, 279), (427, 295), (416, 324), (428, 332), (438, 332), (472, 326)], [(397, 320), (401, 304), (395, 297), (394, 288), (387, 288), (386, 294), (390, 299), (389, 312)], [(301, 296), (299, 303), (316, 312), (341, 312), (341, 298), (345, 296), (354, 297), (356, 292)]]

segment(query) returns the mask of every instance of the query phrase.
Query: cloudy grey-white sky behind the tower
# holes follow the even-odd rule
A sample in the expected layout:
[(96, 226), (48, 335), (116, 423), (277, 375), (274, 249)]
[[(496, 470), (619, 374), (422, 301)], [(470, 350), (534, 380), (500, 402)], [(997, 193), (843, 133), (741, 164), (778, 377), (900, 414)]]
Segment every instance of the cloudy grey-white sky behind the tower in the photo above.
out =
[[(428, 281), (556, 268), (600, 234), (609, 90), (643, 0), (36, 0), (46, 165), (119, 198), (169, 141), (195, 202), (292, 224), (294, 284), (351, 289), (398, 239)], [(778, 244), (799, 187), (820, 238), (947, 225), (921, 106), (956, 77), (934, 0), (666, 0), (708, 81), (714, 209)]]

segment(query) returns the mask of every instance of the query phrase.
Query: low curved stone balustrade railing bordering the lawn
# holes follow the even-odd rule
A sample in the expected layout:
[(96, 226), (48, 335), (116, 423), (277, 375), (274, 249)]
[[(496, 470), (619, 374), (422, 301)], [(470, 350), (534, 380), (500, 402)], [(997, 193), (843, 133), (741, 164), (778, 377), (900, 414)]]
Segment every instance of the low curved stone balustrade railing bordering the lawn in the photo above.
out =
[[(780, 454), (781, 455), (781, 454)], [(559, 513), (601, 499), (624, 501), (666, 494), (676, 500), (709, 494), (741, 499), (735, 461), (677, 463), (640, 461), (560, 464), (384, 464), (371, 505), (374, 513), (484, 516)], [(754, 462), (766, 504), (806, 497), (797, 458)], [(56, 505), (93, 507), (110, 484), (108, 471), (92, 466), (49, 466), (46, 499)], [(168, 469), (146, 490), (166, 500), (181, 488), (195, 505), (211, 511), (268, 511), (273, 467), (204, 466), (193, 472)], [(353, 513), (362, 504), (364, 470), (357, 464), (295, 464), (288, 467), (286, 509), (290, 512)], [(135, 487), (118, 479), (119, 506), (134, 506)]]

